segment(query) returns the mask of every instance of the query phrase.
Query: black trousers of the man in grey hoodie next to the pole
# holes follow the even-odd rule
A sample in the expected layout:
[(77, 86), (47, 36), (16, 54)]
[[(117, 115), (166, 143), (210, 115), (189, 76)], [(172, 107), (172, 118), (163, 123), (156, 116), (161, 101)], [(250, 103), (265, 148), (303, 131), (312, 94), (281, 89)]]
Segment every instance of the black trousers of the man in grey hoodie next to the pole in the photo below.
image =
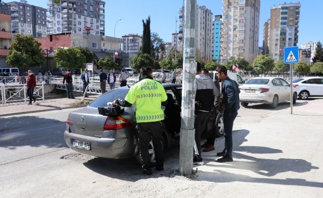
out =
[(209, 116), (210, 112), (195, 111), (195, 143), (199, 151), (198, 158), (201, 158), (201, 134), (208, 122)]

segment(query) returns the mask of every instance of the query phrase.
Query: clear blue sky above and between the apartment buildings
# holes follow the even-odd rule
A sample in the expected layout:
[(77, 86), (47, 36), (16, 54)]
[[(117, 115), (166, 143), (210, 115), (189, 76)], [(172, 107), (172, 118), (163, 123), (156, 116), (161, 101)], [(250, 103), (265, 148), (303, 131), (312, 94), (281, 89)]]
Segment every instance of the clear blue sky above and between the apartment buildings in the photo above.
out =
[[(7, 0), (2, 0), (6, 2)], [(8, 0), (11, 1), (11, 0)], [(17, 0), (19, 1), (19, 0)], [(142, 34), (142, 19), (151, 16), (151, 31), (157, 32), (164, 41), (171, 41), (175, 32), (175, 18), (183, 0), (105, 0), (106, 35), (113, 36), (114, 24), (119, 19), (115, 36), (134, 33)], [(323, 0), (261, 0), (259, 45), (263, 42), (263, 24), (270, 18), (270, 7), (284, 2), (301, 3), (299, 43), (323, 40), (323, 26), (320, 24)], [(47, 0), (28, 0), (29, 4), (47, 7)], [(197, 0), (199, 5), (211, 9), (214, 15), (222, 13), (222, 0)], [(177, 22), (178, 24), (178, 22)]]

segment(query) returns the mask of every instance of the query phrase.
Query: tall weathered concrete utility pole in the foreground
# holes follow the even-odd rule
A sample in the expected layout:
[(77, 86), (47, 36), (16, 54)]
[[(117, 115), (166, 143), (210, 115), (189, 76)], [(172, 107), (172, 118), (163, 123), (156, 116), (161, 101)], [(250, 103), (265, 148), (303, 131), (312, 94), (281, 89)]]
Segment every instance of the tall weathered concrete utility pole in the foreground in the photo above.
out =
[(184, 53), (183, 88), (179, 151), (179, 173), (189, 176), (193, 171), (193, 145), (195, 137), (195, 9), (196, 0), (185, 0), (184, 5)]

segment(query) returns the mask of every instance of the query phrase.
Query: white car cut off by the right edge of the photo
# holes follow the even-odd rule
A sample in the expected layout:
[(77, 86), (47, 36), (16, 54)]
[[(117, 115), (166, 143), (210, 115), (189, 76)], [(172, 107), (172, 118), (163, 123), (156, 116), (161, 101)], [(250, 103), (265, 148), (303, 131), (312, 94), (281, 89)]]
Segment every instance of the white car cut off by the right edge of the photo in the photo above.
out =
[(299, 99), (323, 96), (323, 77), (306, 77), (293, 81)]

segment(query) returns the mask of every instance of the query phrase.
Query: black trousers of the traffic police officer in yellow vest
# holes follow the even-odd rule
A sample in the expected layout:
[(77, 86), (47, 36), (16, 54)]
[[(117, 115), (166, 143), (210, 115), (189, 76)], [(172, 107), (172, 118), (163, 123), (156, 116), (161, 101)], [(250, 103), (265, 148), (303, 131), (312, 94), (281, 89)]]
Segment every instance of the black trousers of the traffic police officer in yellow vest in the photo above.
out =
[(150, 154), (148, 152), (149, 143), (153, 138), (156, 167), (162, 167), (164, 162), (162, 146), (162, 123), (143, 122), (138, 123), (138, 142), (140, 157), (143, 161), (143, 168), (151, 168)]

